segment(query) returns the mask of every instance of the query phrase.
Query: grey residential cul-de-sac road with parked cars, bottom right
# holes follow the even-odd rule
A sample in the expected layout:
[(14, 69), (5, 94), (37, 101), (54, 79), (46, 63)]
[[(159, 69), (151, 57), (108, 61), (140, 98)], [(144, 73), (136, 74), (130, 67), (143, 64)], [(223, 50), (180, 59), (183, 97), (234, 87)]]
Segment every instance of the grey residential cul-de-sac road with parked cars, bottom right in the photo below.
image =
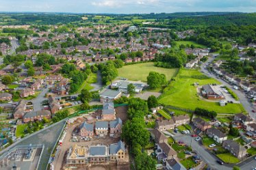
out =
[(205, 147), (199, 144), (198, 141), (195, 141), (193, 137), (190, 135), (180, 134), (177, 133), (173, 137), (176, 141), (183, 141), (187, 145), (191, 145), (193, 150), (196, 151), (196, 153), (199, 154), (199, 156), (203, 159), (204, 162), (206, 162), (212, 169), (218, 169), (218, 170), (232, 170), (231, 167), (227, 167), (225, 165), (219, 165), (216, 160), (217, 158), (213, 154), (209, 154)]

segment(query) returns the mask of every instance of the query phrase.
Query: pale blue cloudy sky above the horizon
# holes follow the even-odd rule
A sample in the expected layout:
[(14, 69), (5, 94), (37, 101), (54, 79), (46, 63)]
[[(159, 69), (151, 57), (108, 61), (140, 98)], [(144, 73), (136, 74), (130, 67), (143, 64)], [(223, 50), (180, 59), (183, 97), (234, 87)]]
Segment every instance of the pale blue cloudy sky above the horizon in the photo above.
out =
[(256, 0), (0, 0), (0, 12), (256, 12)]

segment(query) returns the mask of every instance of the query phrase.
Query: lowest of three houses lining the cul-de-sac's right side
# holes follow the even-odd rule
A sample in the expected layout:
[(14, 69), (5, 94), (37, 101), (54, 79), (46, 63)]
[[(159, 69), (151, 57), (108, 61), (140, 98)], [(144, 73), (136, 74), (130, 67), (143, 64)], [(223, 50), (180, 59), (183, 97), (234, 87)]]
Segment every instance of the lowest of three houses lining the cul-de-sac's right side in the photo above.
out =
[(223, 141), (222, 147), (228, 150), (235, 157), (243, 158), (244, 156), (246, 156), (246, 149), (236, 141)]

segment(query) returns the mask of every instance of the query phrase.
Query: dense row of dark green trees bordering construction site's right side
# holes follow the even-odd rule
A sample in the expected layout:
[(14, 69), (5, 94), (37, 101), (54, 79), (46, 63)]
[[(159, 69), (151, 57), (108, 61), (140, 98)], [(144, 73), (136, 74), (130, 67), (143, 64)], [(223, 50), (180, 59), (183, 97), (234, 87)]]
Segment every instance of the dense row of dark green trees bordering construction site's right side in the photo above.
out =
[(148, 112), (147, 103), (140, 98), (129, 100), (128, 120), (122, 128), (122, 139), (131, 147), (131, 154), (134, 158), (136, 169), (155, 169), (157, 161), (148, 156), (143, 148), (149, 144), (149, 131), (146, 130), (144, 115)]

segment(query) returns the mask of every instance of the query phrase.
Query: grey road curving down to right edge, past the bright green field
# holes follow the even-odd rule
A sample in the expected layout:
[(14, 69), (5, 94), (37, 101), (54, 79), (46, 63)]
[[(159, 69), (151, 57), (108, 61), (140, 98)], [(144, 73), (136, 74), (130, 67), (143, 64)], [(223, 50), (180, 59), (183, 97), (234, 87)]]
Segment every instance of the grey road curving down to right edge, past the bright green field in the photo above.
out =
[(210, 76), (214, 79), (217, 79), (218, 81), (220, 81), (220, 83), (222, 83), (223, 85), (226, 85), (227, 87), (229, 87), (232, 91), (235, 92), (235, 94), (238, 95), (238, 97), (240, 98), (240, 102), (242, 103), (244, 109), (246, 109), (246, 111), (249, 113), (249, 115), (251, 117), (253, 117), (253, 119), (256, 119), (256, 113), (253, 113), (252, 110), (254, 110), (253, 105), (248, 102), (248, 98), (246, 98), (246, 95), (244, 93), (242, 93), (242, 91), (239, 90), (235, 90), (233, 89), (233, 85), (230, 85), (229, 83), (227, 83), (226, 81), (220, 79), (218, 76), (216, 76), (215, 74), (212, 74), (210, 72), (208, 72), (208, 70), (205, 69), (205, 66), (207, 63), (212, 63), (212, 61), (214, 61), (214, 57), (209, 57), (208, 60), (203, 63), (201, 65), (201, 71), (207, 75)]

